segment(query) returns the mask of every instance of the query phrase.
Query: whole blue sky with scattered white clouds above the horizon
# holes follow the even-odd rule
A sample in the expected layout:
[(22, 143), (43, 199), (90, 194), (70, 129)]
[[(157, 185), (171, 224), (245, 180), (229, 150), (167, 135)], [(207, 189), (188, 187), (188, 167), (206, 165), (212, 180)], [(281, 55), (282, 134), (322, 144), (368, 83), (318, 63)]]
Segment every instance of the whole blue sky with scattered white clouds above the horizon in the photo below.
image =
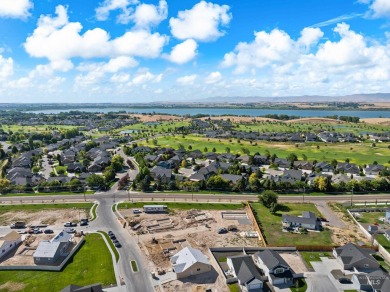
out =
[(388, 0), (0, 0), (0, 102), (390, 92)]

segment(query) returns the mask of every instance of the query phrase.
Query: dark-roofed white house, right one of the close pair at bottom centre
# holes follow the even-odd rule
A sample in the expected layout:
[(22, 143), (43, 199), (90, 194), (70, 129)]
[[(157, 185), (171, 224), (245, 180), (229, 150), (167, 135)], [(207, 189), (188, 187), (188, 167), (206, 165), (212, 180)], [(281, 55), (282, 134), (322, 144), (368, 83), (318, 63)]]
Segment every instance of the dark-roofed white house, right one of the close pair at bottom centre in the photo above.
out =
[(294, 271), (278, 252), (266, 249), (255, 253), (253, 257), (272, 285), (290, 287), (294, 284)]

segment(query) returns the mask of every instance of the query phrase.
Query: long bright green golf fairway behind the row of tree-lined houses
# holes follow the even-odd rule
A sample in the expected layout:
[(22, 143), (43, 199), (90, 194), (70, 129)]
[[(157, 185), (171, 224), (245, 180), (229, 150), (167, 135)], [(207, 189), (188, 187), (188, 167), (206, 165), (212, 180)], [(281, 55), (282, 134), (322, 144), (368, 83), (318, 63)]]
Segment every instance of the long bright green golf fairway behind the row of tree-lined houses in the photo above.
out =
[[(302, 159), (303, 154), (307, 156), (307, 159), (318, 161), (330, 161), (336, 159), (338, 161), (345, 161), (346, 158), (350, 159), (351, 163), (357, 163), (359, 165), (371, 164), (373, 161), (377, 161), (379, 164), (389, 164), (389, 157), (387, 155), (389, 149), (389, 143), (377, 143), (376, 147), (371, 147), (371, 143), (335, 143), (326, 144), (322, 142), (318, 143), (300, 143), (296, 147), (296, 143), (288, 142), (269, 142), (269, 141), (249, 141), (241, 140), (238, 143), (237, 139), (233, 139), (229, 142), (228, 139), (211, 139), (202, 136), (187, 135), (184, 138), (181, 135), (164, 136), (156, 138), (160, 147), (172, 147), (177, 149), (179, 145), (184, 145), (188, 148), (189, 145), (192, 149), (204, 150), (205, 147), (208, 151), (213, 148), (216, 152), (225, 152), (225, 148), (229, 147), (231, 153), (242, 153), (242, 148), (247, 148), (250, 154), (259, 152), (264, 154), (265, 151), (269, 151), (272, 154), (276, 154), (278, 157), (287, 157), (290, 153), (295, 153), (299, 159)], [(255, 143), (257, 145), (255, 145)], [(155, 147), (152, 139), (149, 142), (140, 142), (140, 145), (149, 145)], [(317, 148), (319, 146), (319, 148)]]

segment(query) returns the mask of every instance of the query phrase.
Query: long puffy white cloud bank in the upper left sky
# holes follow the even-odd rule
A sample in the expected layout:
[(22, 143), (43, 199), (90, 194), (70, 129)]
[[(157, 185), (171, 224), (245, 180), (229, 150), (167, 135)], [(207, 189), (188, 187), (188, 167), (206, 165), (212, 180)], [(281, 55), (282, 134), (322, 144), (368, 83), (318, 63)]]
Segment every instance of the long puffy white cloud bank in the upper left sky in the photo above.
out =
[[(156, 58), (168, 38), (159, 33), (144, 30), (128, 31), (110, 40), (109, 34), (100, 28), (80, 34), (82, 25), (69, 22), (64, 6), (56, 7), (56, 16), (41, 16), (37, 28), (26, 39), (24, 47), (32, 57), (62, 61), (75, 57), (145, 57)], [(64, 46), (63, 44), (66, 44)]]

